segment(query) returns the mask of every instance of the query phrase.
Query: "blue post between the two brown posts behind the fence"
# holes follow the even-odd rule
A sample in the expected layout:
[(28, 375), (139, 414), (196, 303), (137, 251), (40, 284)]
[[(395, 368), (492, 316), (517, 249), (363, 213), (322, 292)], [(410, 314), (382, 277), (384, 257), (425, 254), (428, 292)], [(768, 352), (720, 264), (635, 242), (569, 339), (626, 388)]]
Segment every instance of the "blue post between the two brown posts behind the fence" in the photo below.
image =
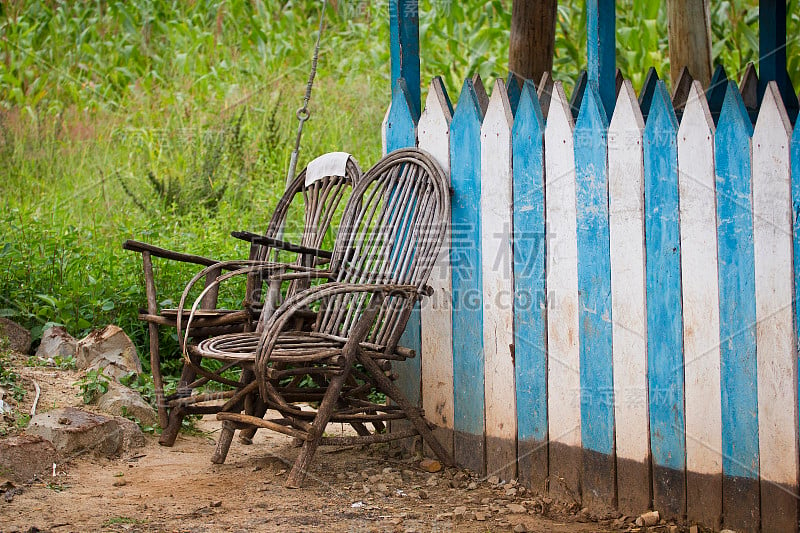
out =
[(616, 13), (614, 0), (586, 2), (589, 80), (598, 85), (606, 122), (614, 112), (616, 95)]

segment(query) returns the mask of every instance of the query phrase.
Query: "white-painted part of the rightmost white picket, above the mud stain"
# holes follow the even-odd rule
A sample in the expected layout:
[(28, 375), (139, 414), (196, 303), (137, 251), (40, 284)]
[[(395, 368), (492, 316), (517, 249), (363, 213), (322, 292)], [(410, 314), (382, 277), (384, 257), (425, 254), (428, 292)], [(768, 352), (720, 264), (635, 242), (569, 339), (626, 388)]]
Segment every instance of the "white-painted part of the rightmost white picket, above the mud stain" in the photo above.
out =
[(789, 117), (767, 85), (753, 134), (758, 433), (762, 479), (796, 486), (797, 350), (792, 315), (792, 191)]

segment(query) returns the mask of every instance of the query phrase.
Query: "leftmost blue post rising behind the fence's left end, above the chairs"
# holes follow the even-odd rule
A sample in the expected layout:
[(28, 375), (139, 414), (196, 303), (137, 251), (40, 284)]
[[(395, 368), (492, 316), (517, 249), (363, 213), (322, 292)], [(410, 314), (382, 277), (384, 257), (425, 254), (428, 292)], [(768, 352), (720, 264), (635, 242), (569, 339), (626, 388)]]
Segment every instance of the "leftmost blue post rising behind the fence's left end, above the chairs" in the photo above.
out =
[(392, 90), (406, 80), (414, 118), (420, 115), (419, 1), (389, 0), (389, 50), (392, 58)]

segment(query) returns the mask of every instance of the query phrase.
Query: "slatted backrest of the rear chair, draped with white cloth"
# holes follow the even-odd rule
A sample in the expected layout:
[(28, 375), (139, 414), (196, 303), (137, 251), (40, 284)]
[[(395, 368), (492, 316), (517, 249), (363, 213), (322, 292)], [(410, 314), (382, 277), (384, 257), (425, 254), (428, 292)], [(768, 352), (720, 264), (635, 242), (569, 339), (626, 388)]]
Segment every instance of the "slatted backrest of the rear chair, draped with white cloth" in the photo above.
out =
[[(340, 156), (344, 163), (344, 175), (337, 171), (333, 175), (316, 173), (309, 176), (309, 168), (313, 162), (303, 169), (300, 174), (289, 184), (283, 196), (278, 201), (272, 213), (264, 236), (281, 239), (286, 238), (293, 244), (300, 244), (309, 248), (322, 248), (325, 236), (330, 234), (335, 242), (338, 226), (341, 222), (343, 209), (341, 206), (349, 198), (348, 192), (361, 179), (361, 168), (355, 158), (349, 154), (335, 153), (320, 156), (314, 161), (320, 161), (329, 155)], [(302, 203), (298, 200), (302, 199)], [(299, 227), (298, 227), (299, 226)], [(286, 235), (288, 233), (288, 235)], [(256, 246), (251, 250), (250, 259), (266, 261), (271, 258), (275, 250), (270, 246)], [(296, 263), (305, 266), (314, 266), (315, 258), (309, 255), (298, 255)], [(287, 296), (299, 292), (307, 283), (295, 281), (289, 285)], [(248, 276), (247, 295), (248, 301), (258, 303), (261, 301), (262, 279), (260, 273)], [(273, 303), (275, 305), (275, 303)]]

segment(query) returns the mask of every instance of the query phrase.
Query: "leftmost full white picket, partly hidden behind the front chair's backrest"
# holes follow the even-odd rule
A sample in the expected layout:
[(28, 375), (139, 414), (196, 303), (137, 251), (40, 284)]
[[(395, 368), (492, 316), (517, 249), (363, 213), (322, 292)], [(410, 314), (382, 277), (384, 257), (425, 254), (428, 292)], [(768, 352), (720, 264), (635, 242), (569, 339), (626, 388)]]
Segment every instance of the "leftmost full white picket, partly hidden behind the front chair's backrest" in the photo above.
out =
[[(417, 144), (450, 176), (452, 111), (441, 78), (431, 82), (417, 126)], [(440, 428), (453, 429), (453, 294), (450, 232), (445, 237), (428, 284), (433, 296), (422, 302), (422, 407)], [(442, 443), (452, 452), (452, 436)]]

